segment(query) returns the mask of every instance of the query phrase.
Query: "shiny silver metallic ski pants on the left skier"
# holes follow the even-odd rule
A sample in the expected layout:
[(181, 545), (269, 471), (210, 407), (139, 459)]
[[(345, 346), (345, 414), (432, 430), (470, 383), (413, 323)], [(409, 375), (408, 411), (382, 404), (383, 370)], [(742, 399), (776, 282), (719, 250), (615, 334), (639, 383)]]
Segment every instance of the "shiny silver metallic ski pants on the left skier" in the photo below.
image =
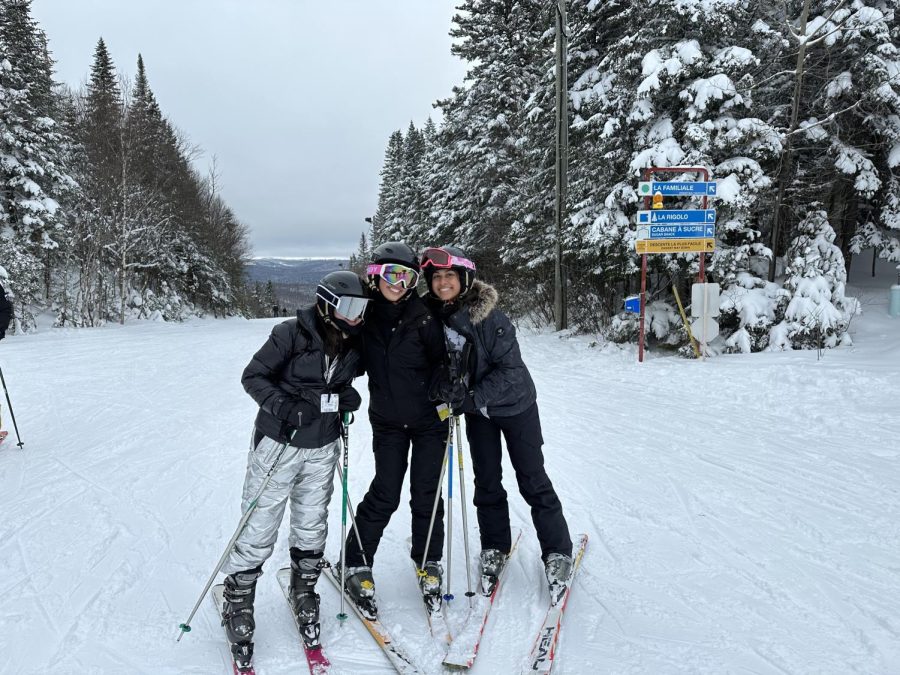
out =
[[(247, 520), (235, 542), (231, 555), (222, 567), (225, 574), (253, 569), (262, 565), (275, 549), (278, 527), (284, 509), (291, 502), (291, 534), (289, 545), (304, 551), (322, 551), (328, 535), (328, 502), (334, 491), (334, 467), (340, 441), (322, 448), (288, 446), (278, 468), (272, 474), (256, 509)], [(259, 492), (281, 444), (264, 436), (247, 456), (247, 475), (241, 512), (246, 513), (251, 500)]]

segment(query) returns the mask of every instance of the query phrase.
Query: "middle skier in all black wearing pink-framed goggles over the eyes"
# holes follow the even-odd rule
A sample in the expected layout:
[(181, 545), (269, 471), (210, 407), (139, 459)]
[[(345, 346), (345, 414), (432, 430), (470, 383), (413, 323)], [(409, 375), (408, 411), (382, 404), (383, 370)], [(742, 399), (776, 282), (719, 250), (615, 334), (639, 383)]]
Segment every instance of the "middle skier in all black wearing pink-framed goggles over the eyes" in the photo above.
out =
[(363, 551), (352, 531), (347, 537), (346, 584), (360, 609), (374, 617), (377, 608), (372, 563), (384, 528), (400, 505), (407, 465), (412, 511), (410, 555), (417, 567), (423, 557), (427, 561), (425, 574), (420, 576), (422, 593), (429, 607), (440, 606), (442, 500), (427, 554), (425, 540), (439, 488), (448, 425), (428, 396), (433, 378), (441, 372), (446, 349), (440, 323), (415, 291), (419, 276), (416, 254), (402, 242), (382, 244), (375, 249), (367, 273), (375, 299), (363, 329), (362, 351), (369, 375), (375, 476), (356, 511)]

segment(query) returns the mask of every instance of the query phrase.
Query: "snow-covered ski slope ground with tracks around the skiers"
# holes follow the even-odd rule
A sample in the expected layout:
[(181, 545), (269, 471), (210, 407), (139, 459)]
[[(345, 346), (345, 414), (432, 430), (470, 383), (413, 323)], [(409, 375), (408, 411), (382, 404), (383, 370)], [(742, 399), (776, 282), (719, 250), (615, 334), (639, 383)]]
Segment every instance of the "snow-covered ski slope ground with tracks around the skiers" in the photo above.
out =
[[(860, 267), (865, 265), (860, 264)], [(861, 271), (862, 272), (862, 271)], [(574, 533), (590, 545), (554, 672), (900, 673), (900, 320), (892, 278), (860, 279), (854, 346), (706, 362), (587, 338), (524, 336), (545, 454)], [(240, 373), (275, 320), (43, 330), (0, 344), (25, 440), (0, 446), (0, 672), (226, 673), (209, 600), (176, 644), (240, 516), (252, 400)], [(365, 383), (358, 382), (362, 391)], [(351, 429), (351, 499), (373, 470)], [(467, 470), (468, 470), (467, 466)], [(473, 674), (515, 673), (546, 591), (524, 536)], [(471, 497), (471, 475), (467, 493)], [(453, 584), (465, 590), (454, 517)], [(469, 511), (473, 550), (474, 512)], [(331, 505), (336, 556), (340, 499)], [(440, 672), (403, 552), (406, 502), (376, 560), (383, 620)], [(260, 580), (257, 672), (303, 653), (274, 571)], [(337, 672), (391, 668), (325, 582), (323, 640)], [(451, 617), (464, 613), (453, 601)]]

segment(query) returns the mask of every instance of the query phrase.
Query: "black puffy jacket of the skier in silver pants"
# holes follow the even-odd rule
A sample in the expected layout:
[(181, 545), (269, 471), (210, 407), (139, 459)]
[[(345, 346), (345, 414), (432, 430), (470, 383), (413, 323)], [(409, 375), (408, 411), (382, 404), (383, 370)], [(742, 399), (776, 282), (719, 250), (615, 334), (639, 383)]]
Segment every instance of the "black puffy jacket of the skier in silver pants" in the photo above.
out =
[[(291, 445), (321, 448), (340, 435), (340, 414), (320, 413), (322, 394), (339, 393), (358, 374), (360, 353), (355, 340), (345, 340), (330, 378), (326, 378), (325, 330), (316, 308), (297, 311), (297, 318), (279, 323), (244, 368), (241, 384), (259, 404), (256, 429), (287, 443), (297, 428), (291, 410), (306, 401), (315, 413), (307, 414)], [(330, 329), (329, 329), (330, 330)], [(310, 419), (311, 418), (311, 419)]]

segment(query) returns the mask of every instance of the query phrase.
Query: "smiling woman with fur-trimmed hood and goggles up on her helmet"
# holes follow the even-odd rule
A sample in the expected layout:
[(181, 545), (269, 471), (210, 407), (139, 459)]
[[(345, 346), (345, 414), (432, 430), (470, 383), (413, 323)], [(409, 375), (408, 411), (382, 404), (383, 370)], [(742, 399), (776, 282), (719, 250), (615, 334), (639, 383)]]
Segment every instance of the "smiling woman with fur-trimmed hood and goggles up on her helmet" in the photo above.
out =
[(428, 304), (441, 319), (450, 354), (449, 383), (433, 392), (465, 414), (481, 530), (482, 591), (489, 595), (512, 547), (509, 504), (501, 482), (501, 434), (519, 492), (531, 507), (551, 597), (572, 571), (572, 540), (562, 505), (544, 469), (537, 393), (522, 361), (516, 331), (497, 308), (497, 291), (475, 279), (475, 264), (458, 248), (428, 248), (421, 269)]

